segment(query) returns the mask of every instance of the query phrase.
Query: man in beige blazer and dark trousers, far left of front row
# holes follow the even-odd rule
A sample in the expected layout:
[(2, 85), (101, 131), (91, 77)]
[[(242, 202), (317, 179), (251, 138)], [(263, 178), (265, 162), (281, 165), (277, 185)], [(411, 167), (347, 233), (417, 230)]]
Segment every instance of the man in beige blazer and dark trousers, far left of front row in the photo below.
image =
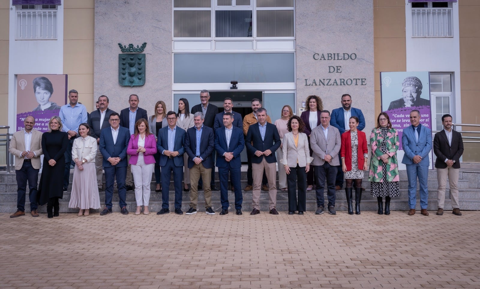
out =
[(17, 177), (17, 211), (10, 218), (25, 215), (25, 194), (28, 181), (30, 212), (38, 217), (36, 202), (38, 171), (42, 155), (42, 133), (34, 130), (35, 118), (27, 116), (24, 129), (13, 133), (8, 151), (15, 156), (15, 174)]

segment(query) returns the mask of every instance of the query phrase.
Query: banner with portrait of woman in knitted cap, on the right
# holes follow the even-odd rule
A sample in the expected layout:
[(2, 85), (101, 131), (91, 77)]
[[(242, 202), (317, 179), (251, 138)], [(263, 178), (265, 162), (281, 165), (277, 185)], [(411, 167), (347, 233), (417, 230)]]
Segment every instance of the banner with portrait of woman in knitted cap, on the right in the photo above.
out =
[(382, 111), (388, 114), (392, 127), (398, 132), (400, 146), (397, 158), (399, 168), (405, 169), (405, 166), (400, 164), (404, 155), (402, 134), (403, 130), (410, 126), (410, 111), (420, 111), (420, 123), (432, 129), (430, 73), (428, 71), (381, 72), (380, 78)]

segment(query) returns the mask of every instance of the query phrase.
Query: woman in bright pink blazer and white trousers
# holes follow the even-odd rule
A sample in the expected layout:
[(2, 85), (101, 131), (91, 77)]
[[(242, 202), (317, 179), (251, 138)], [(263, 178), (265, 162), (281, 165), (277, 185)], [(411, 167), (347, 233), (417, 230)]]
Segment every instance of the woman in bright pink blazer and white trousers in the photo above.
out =
[(135, 182), (135, 200), (137, 210), (135, 215), (140, 215), (142, 205), (144, 214), (148, 215), (148, 201), (150, 200), (150, 183), (155, 164), (156, 140), (150, 133), (148, 122), (144, 118), (135, 122), (135, 134), (132, 134), (127, 147), (130, 155), (129, 164), (132, 165), (133, 181)]

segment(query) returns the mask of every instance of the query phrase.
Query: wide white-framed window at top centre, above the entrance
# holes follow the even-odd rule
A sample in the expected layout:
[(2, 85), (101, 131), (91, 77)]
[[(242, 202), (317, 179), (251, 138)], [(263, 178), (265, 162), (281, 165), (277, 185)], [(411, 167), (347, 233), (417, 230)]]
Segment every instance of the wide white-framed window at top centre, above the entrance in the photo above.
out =
[(174, 0), (173, 31), (174, 38), (293, 39), (294, 0)]

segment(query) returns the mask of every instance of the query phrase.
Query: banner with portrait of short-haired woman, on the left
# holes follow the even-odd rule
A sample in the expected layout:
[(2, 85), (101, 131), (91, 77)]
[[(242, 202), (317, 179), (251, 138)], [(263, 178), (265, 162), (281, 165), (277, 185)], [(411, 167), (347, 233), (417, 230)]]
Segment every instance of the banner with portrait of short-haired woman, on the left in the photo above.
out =
[(59, 115), (60, 107), (67, 103), (67, 75), (19, 74), (17, 75), (17, 129), (32, 115), (35, 129), (48, 131), (48, 121)]

